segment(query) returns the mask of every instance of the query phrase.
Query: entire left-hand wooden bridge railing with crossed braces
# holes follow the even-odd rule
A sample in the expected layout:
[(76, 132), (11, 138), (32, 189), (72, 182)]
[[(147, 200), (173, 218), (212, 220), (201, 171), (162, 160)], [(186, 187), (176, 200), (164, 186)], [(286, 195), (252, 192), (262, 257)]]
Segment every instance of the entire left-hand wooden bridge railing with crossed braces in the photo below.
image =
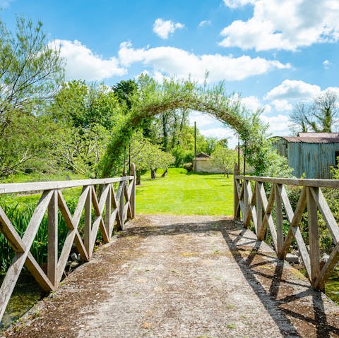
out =
[[(114, 185), (117, 191), (114, 191)], [(71, 215), (62, 190), (75, 187), (83, 188), (76, 210)], [(136, 181), (133, 164), (131, 176), (113, 179), (0, 184), (0, 194), (39, 191), (42, 191), (40, 201), (22, 238), (0, 206), (0, 232), (15, 251), (15, 257), (1, 284), (0, 320), (24, 265), (44, 291), (53, 291), (57, 289), (63, 277), (73, 243), (76, 244), (81, 259), (88, 261), (93, 253), (98, 230), (101, 231), (102, 240), (107, 243), (112, 237), (114, 227), (117, 230), (122, 229), (126, 219), (133, 218), (136, 212)], [(60, 255), (58, 255), (59, 211), (69, 230)], [(47, 273), (30, 253), (37, 230), (46, 213), (48, 215)], [(79, 233), (81, 220), (83, 220), (82, 236)]]

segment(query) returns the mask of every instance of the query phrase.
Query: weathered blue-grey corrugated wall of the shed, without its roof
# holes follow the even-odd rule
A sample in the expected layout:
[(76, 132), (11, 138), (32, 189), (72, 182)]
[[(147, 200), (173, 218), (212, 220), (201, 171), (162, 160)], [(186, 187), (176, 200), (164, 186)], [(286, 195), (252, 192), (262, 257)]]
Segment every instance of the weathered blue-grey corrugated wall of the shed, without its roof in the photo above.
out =
[(287, 143), (288, 164), (297, 177), (306, 179), (331, 179), (331, 167), (335, 166), (335, 152), (339, 143)]

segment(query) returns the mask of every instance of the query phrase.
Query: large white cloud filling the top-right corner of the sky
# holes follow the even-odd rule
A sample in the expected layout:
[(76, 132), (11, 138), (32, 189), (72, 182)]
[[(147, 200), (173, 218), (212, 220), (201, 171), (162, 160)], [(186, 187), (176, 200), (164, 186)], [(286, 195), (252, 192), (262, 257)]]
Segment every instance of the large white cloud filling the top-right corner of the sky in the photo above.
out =
[(254, 4), (249, 20), (235, 20), (220, 33), (224, 47), (295, 51), (314, 43), (339, 40), (339, 1), (224, 0), (229, 7)]

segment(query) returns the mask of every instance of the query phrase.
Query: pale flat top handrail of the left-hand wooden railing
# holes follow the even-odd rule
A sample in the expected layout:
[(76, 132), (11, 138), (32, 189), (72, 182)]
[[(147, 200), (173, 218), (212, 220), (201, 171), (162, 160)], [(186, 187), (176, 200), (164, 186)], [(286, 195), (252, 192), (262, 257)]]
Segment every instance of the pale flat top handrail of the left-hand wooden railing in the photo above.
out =
[(3, 183), (0, 184), (0, 195), (5, 193), (26, 193), (28, 191), (44, 191), (50, 189), (76, 188), (79, 186), (94, 186), (96, 184), (109, 184), (131, 181), (133, 176), (114, 177), (109, 179), (82, 179), (73, 181), (47, 181), (28, 183)]

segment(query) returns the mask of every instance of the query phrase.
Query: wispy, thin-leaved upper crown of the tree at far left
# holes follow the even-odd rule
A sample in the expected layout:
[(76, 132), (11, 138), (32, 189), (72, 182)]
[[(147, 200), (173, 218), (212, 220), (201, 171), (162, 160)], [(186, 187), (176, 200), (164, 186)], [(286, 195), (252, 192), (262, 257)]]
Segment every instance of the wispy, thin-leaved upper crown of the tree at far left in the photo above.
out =
[(59, 50), (47, 43), (42, 23), (17, 18), (16, 32), (0, 22), (0, 136), (13, 111), (31, 114), (50, 99), (64, 77)]

